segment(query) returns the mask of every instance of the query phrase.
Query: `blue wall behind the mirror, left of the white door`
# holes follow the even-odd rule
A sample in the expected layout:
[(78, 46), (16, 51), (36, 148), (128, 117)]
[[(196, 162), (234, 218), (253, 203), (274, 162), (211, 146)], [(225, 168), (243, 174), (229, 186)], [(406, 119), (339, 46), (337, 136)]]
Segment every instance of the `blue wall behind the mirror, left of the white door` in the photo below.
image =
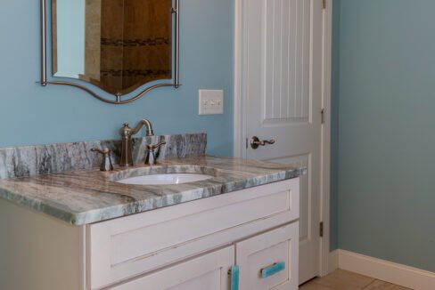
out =
[[(156, 133), (209, 133), (210, 154), (232, 155), (233, 0), (181, 2), (180, 89), (163, 88), (129, 105), (94, 100), (40, 78), (39, 1), (0, 4), (0, 147), (119, 138), (119, 127), (152, 120)], [(198, 89), (223, 89), (223, 116), (198, 116)]]

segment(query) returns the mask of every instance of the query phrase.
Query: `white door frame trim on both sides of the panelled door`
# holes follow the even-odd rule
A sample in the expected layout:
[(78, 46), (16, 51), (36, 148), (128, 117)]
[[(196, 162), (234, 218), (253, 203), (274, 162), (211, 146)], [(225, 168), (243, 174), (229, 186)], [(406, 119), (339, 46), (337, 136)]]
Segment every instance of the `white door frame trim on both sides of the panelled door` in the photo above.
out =
[[(246, 157), (246, 100), (242, 95), (242, 0), (235, 1), (234, 21), (234, 157)], [(317, 0), (324, 1), (324, 0)], [(332, 1), (325, 0), (323, 29), (322, 94), (324, 124), (322, 125), (320, 217), (324, 222), (324, 237), (320, 238), (319, 273), (329, 272), (330, 254), (330, 184), (331, 184), (331, 69), (332, 69)]]

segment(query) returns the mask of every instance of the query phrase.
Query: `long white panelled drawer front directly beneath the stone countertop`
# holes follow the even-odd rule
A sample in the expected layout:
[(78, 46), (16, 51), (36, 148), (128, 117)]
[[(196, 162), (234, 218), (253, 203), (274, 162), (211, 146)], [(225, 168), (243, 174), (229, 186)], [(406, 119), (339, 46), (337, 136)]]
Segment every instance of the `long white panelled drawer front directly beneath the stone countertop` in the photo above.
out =
[(299, 218), (299, 179), (87, 227), (88, 283), (98, 289)]

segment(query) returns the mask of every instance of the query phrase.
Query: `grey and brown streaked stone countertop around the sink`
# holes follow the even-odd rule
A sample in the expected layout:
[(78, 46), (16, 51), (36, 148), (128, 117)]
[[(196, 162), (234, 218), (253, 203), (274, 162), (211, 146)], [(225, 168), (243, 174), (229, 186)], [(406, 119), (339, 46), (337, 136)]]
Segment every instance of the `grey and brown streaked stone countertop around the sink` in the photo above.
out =
[[(144, 173), (207, 173), (214, 177), (176, 185), (115, 182)], [(0, 197), (64, 222), (84, 225), (299, 175), (300, 169), (291, 165), (196, 156), (169, 158), (162, 160), (159, 165), (139, 165), (128, 169), (115, 166), (113, 172), (100, 172), (98, 168), (93, 168), (2, 180)]]

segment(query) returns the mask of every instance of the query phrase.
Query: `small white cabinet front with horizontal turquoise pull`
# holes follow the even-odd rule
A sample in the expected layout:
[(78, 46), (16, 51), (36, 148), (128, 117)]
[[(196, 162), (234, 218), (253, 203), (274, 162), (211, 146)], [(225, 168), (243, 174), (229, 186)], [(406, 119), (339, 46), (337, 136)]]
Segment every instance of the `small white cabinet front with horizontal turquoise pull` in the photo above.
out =
[(240, 290), (298, 289), (299, 222), (236, 244)]

